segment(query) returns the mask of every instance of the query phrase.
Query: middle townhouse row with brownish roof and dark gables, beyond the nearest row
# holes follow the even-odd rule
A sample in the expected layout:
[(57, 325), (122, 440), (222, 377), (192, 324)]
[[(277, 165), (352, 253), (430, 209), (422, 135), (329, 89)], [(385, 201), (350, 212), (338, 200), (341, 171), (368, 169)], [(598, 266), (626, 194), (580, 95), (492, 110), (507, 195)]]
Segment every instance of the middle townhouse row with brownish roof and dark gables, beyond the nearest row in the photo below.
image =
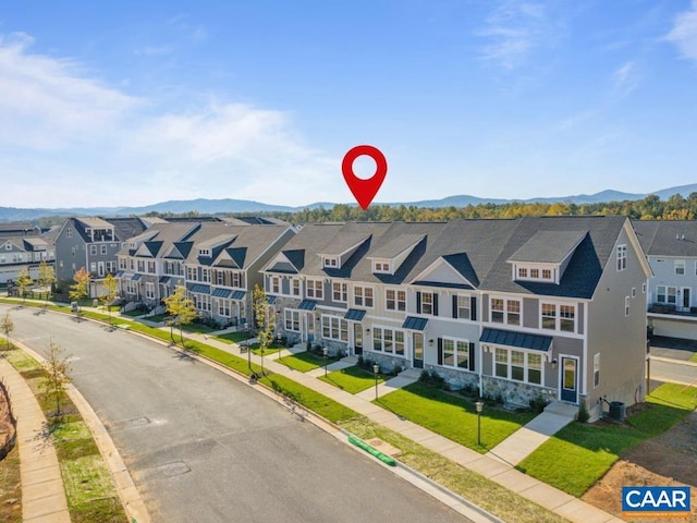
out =
[(290, 224), (183, 221), (157, 223), (132, 238), (118, 254), (122, 294), (160, 307), (184, 285), (203, 318), (240, 325), (252, 318), (259, 269), (295, 233)]

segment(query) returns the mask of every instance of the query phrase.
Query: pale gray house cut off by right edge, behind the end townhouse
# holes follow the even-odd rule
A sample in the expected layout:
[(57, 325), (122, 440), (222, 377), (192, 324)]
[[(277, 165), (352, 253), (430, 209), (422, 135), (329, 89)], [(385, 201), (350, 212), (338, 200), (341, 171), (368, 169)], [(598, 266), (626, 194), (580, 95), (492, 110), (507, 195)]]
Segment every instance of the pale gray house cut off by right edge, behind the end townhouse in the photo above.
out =
[(633, 221), (653, 275), (647, 316), (656, 336), (697, 340), (697, 221)]

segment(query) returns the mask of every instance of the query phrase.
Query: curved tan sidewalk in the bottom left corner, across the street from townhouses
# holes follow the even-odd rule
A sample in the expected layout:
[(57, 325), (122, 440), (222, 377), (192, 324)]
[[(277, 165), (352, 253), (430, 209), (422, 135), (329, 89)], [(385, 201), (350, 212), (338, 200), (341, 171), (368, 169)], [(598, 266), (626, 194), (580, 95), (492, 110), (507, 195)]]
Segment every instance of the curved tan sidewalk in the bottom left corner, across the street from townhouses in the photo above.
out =
[(5, 360), (0, 360), (0, 376), (17, 416), (22, 521), (70, 523), (61, 470), (44, 412), (22, 375)]

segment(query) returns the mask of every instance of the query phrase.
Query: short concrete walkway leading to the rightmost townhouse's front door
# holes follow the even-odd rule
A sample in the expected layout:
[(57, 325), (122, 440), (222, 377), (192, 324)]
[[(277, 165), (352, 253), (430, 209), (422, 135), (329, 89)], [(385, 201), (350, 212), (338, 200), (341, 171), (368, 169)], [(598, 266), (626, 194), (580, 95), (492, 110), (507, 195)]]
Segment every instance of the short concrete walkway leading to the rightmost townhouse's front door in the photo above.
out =
[(576, 417), (578, 408), (555, 401), (540, 415), (530, 419), (506, 439), (487, 452), (501, 463), (515, 466), (531, 454), (535, 449), (554, 436)]

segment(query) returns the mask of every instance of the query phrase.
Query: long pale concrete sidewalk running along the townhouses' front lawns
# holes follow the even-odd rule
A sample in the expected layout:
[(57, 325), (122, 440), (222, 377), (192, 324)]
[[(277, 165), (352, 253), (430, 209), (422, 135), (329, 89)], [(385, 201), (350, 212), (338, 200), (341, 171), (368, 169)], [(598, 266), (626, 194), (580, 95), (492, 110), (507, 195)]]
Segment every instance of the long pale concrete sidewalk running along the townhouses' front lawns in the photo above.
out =
[[(246, 357), (247, 354), (242, 354), (240, 348), (236, 344), (227, 344), (219, 342), (209, 336), (204, 338), (203, 335), (189, 335), (191, 339), (203, 341), (209, 345), (221, 349), (231, 354)], [(290, 355), (290, 351), (281, 351), (282, 355)], [(256, 364), (259, 363), (259, 356), (252, 354), (252, 361)], [(343, 405), (353, 409), (357, 413), (368, 417), (375, 423), (378, 423), (402, 436), (412, 439), (413, 441), (421, 445), (423, 447), (442, 454), (449, 460), (469, 469), (482, 476), (498, 483), (499, 485), (512, 490), (524, 498), (527, 498), (546, 509), (555, 512), (557, 514), (577, 523), (620, 523), (623, 520), (609, 514), (580, 499), (577, 499), (562, 490), (551, 487), (542, 482), (539, 482), (530, 476), (516, 471), (511, 464), (503, 463), (498, 459), (480, 454), (472, 449), (455, 443), (454, 441), (444, 438), (427, 428), (424, 428), (415, 423), (403, 419), (398, 415), (389, 412), (379, 405), (371, 403), (375, 399), (375, 390), (370, 389), (364, 391), (360, 394), (351, 394), (332, 385), (329, 385), (316, 377), (309, 375), (309, 373), (301, 373), (298, 370), (286, 367), (283, 364), (279, 364), (276, 361), (269, 358), (265, 360), (265, 367), (276, 374), (286, 376), (294, 381), (313, 389)], [(330, 366), (331, 367), (331, 366)], [(317, 374), (317, 373), (315, 373)], [(323, 368), (320, 375), (323, 375)], [(394, 380), (401, 379), (400, 377)], [(390, 380), (393, 381), (393, 380)], [(390, 381), (381, 384), (383, 392), (391, 392), (394, 387), (388, 386)], [(412, 382), (411, 379), (404, 379), (406, 382)], [(402, 385), (402, 386), (404, 386)], [(380, 392), (380, 386), (378, 387)]]

